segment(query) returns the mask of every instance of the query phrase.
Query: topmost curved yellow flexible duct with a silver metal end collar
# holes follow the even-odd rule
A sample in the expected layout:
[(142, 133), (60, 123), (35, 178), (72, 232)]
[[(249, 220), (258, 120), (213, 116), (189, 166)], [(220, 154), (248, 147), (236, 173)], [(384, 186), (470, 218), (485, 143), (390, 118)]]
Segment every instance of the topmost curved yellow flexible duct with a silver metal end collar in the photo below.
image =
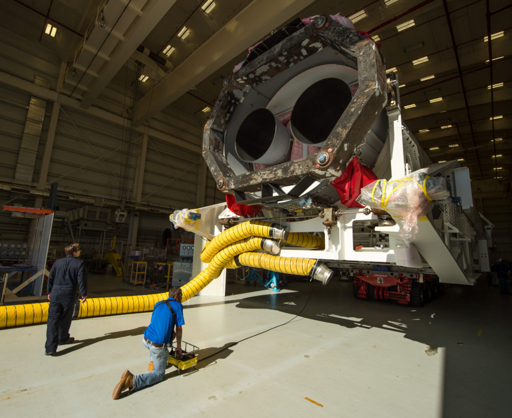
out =
[(277, 224), (262, 221), (247, 221), (233, 226), (211, 240), (201, 251), (201, 261), (209, 263), (220, 250), (229, 244), (236, 243), (250, 236), (261, 236), (284, 240), (288, 236), (288, 229)]

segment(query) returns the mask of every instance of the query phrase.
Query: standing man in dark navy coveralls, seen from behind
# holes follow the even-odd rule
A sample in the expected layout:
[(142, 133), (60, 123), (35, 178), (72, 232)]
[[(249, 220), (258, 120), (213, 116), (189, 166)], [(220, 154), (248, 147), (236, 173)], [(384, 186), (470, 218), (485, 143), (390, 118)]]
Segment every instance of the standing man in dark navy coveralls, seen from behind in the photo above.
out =
[(59, 258), (48, 276), (47, 292), (50, 307), (46, 328), (46, 355), (57, 351), (57, 345), (71, 344), (75, 339), (69, 336), (76, 302), (76, 290), (79, 289), (81, 303), (87, 299), (87, 274), (83, 261), (78, 260), (80, 246), (68, 245), (64, 252), (66, 258)]

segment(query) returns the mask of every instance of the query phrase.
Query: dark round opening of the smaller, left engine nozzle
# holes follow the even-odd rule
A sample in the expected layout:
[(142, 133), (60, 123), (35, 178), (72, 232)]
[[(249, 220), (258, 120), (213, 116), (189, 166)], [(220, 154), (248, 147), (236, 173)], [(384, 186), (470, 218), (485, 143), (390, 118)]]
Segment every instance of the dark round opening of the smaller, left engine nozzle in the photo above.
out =
[(240, 128), (234, 142), (234, 148), (242, 161), (253, 162), (262, 157), (269, 149), (275, 135), (275, 117), (265, 108), (249, 113)]

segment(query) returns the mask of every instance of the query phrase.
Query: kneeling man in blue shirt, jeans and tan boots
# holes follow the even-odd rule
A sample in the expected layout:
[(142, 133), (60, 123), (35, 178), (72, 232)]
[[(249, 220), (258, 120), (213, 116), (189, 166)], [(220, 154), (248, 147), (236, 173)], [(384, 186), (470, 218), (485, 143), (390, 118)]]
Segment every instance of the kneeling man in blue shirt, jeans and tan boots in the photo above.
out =
[[(181, 354), (181, 335), (183, 321), (183, 305), (181, 298), (183, 294), (179, 287), (169, 289), (169, 298), (165, 301), (158, 302), (153, 308), (151, 315), (151, 323), (148, 325), (142, 336), (142, 344), (150, 350), (150, 366), (151, 371), (153, 363), (153, 371), (145, 374), (133, 375), (129, 370), (125, 370), (121, 375), (121, 380), (112, 392), (112, 399), (118, 399), (121, 392), (129, 389), (139, 390), (143, 387), (154, 385), (161, 382), (165, 374), (165, 367), (169, 360), (169, 350), (167, 344), (173, 342), (176, 336), (176, 354)], [(176, 332), (173, 332), (176, 326)]]

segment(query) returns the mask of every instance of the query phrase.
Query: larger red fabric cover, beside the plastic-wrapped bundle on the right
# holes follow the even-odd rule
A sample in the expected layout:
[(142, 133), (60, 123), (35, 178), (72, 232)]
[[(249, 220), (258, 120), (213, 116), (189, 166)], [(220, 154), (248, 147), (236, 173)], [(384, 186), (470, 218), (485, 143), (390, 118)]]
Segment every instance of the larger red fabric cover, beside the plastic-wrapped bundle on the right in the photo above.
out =
[(368, 186), (378, 180), (373, 171), (364, 164), (359, 163), (356, 156), (350, 160), (345, 171), (335, 178), (331, 184), (338, 192), (342, 204), (348, 208), (364, 208), (355, 200), (361, 194), (361, 187)]

